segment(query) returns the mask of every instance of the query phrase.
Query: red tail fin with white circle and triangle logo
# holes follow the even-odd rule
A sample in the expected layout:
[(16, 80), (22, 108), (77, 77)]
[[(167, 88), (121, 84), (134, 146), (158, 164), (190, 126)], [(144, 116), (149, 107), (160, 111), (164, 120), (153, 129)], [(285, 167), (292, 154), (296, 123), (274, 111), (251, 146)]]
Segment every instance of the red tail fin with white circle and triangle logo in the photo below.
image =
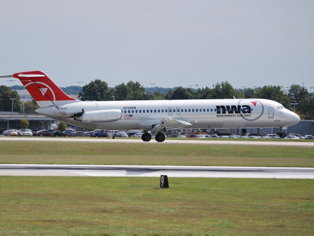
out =
[(19, 79), (40, 107), (78, 102), (69, 97), (44, 72), (26, 71), (13, 75)]

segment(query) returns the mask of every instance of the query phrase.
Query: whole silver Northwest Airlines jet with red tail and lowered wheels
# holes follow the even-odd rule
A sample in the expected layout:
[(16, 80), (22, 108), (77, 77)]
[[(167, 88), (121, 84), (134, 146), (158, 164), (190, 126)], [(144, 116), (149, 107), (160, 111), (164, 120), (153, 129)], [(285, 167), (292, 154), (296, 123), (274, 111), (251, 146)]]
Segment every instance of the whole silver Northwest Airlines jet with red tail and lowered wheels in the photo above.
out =
[(3, 78), (19, 79), (40, 106), (37, 113), (91, 129), (141, 129), (142, 140), (165, 141), (166, 129), (283, 127), (299, 115), (268, 99), (195, 99), (147, 101), (80, 101), (69, 97), (44, 72), (26, 71)]

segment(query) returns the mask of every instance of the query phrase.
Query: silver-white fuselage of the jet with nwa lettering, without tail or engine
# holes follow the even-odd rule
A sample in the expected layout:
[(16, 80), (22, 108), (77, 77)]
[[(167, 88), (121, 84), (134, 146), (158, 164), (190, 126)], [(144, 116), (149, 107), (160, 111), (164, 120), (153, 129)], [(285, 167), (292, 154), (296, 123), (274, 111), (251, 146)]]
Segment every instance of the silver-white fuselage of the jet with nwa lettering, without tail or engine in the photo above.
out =
[[(71, 117), (83, 111), (114, 109), (122, 113), (113, 122), (83, 122)], [(108, 130), (151, 130), (164, 118), (191, 124), (167, 126), (167, 129), (283, 127), (300, 121), (297, 114), (267, 99), (64, 101), (64, 104), (59, 102), (57, 106), (40, 108), (36, 112), (71, 125)]]

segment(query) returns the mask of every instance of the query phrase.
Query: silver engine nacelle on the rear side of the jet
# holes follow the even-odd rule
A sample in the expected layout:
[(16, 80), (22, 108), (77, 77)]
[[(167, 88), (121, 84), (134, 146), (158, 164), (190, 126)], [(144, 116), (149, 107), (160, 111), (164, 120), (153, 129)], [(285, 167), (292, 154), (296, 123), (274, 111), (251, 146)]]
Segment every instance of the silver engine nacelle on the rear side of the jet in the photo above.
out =
[(112, 110), (97, 110), (85, 111), (83, 114), (71, 116), (75, 121), (82, 121), (86, 123), (101, 123), (118, 121), (122, 117), (122, 111), (118, 109)]

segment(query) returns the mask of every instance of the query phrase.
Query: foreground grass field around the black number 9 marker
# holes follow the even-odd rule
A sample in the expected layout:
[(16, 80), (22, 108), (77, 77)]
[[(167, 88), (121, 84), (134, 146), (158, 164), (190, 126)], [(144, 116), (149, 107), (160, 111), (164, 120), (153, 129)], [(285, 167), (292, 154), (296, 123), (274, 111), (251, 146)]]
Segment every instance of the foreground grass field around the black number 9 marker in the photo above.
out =
[(0, 177), (0, 235), (313, 235), (313, 180)]

